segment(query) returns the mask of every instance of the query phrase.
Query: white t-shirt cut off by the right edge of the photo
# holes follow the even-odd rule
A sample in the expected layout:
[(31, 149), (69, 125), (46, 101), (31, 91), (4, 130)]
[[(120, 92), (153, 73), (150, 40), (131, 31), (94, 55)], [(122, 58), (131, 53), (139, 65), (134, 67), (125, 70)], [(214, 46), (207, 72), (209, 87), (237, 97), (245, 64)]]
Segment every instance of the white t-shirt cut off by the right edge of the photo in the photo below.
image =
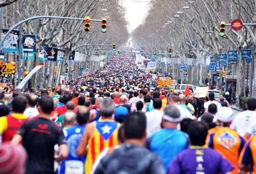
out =
[(244, 111), (238, 113), (236, 117), (234, 117), (230, 128), (237, 130), (240, 136), (244, 136), (246, 133), (246, 129), (249, 127), (250, 124), (254, 123), (256, 120), (256, 112), (255, 111)]

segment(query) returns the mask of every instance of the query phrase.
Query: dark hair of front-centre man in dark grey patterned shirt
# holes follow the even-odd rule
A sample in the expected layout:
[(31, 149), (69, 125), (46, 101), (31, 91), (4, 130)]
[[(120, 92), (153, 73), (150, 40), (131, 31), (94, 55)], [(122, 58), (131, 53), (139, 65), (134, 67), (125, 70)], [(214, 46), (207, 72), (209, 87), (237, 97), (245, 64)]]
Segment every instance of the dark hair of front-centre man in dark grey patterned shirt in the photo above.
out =
[(142, 139), (146, 132), (146, 116), (142, 112), (128, 115), (123, 122), (126, 139)]

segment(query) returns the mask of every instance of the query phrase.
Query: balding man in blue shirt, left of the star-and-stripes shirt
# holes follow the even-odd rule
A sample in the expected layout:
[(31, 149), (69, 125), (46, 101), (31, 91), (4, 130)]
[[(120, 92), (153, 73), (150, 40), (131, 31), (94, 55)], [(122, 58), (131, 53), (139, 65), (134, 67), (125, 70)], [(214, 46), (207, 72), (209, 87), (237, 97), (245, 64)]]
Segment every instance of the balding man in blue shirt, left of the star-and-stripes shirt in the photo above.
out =
[(63, 129), (63, 133), (69, 145), (69, 156), (61, 162), (58, 171), (58, 173), (60, 174), (65, 174), (69, 172), (83, 173), (84, 171), (84, 162), (86, 160), (86, 156), (77, 156), (76, 148), (79, 145), (79, 142), (84, 132), (84, 128), (89, 122), (90, 110), (88, 107), (81, 106), (79, 107), (79, 110), (77, 110), (76, 117), (70, 117), (70, 119), (71, 118), (74, 118), (74, 120), (76, 120), (76, 124), (66, 128), (65, 130)]

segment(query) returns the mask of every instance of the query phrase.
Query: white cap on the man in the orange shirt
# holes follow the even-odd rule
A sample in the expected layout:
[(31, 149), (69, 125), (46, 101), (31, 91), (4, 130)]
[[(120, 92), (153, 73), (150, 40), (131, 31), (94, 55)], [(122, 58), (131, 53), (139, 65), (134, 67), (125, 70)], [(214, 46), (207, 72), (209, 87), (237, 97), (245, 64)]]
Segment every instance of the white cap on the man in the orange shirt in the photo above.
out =
[(234, 119), (234, 112), (230, 107), (221, 107), (217, 112), (217, 119), (221, 122), (228, 123)]

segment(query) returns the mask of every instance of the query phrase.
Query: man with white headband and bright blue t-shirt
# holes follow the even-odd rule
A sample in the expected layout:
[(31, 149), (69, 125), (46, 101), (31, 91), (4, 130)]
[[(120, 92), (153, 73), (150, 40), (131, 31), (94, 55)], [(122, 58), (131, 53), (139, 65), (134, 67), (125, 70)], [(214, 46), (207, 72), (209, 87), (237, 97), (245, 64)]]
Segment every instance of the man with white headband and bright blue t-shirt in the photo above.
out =
[(167, 105), (162, 117), (163, 128), (146, 141), (146, 147), (161, 157), (166, 171), (174, 157), (188, 145), (187, 134), (177, 130), (182, 120), (179, 109), (174, 105)]

